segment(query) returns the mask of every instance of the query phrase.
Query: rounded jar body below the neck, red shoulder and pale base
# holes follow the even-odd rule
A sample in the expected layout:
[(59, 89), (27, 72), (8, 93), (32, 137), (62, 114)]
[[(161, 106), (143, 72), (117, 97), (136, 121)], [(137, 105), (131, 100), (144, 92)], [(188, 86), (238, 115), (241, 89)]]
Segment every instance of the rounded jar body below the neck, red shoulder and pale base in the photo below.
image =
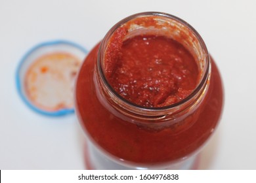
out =
[[(198, 99), (194, 99), (193, 109), (177, 118), (171, 114), (170, 120), (155, 120), (155, 123), (162, 121), (165, 124), (156, 128), (150, 127), (152, 121), (144, 125), (145, 120), (138, 120), (133, 115), (117, 110), (111, 97), (104, 95), (104, 86), (98, 82), (99, 52), (100, 44), (85, 59), (77, 76), (75, 91), (77, 116), (89, 137), (89, 157), (102, 159), (104, 164), (96, 165), (93, 163), (95, 160), (92, 160), (91, 168), (192, 168), (194, 155), (215, 131), (223, 106), (221, 76), (213, 59), (208, 71), (211, 76), (207, 86), (204, 86), (207, 90), (203, 90), (201, 101), (197, 103)], [(185, 111), (186, 108), (181, 107), (180, 110)]]

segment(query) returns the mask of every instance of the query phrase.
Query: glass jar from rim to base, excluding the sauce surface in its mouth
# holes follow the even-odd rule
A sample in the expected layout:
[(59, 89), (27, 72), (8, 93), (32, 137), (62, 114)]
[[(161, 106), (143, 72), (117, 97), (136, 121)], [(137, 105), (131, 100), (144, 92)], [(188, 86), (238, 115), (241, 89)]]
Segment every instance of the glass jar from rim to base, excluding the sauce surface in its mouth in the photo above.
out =
[[(104, 68), (106, 49), (116, 42), (118, 52), (118, 44), (137, 35), (173, 39), (192, 54), (199, 79), (190, 95), (171, 105), (142, 107), (112, 88)], [(196, 155), (219, 122), (223, 86), (193, 27), (170, 14), (142, 12), (118, 22), (91, 50), (77, 76), (75, 102), (88, 137), (87, 168), (194, 169)]]

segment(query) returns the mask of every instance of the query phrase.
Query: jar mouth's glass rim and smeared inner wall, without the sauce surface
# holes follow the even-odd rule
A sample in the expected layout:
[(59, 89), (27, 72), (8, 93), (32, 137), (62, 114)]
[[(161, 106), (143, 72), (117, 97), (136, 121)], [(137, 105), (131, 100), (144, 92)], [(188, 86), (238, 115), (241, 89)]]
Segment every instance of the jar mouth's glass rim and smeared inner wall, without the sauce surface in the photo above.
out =
[[(145, 24), (149, 21), (154, 21), (155, 24)], [(198, 84), (190, 95), (177, 103), (166, 105), (164, 107), (143, 107), (121, 97), (121, 95), (112, 88), (104, 73), (104, 54), (108, 46), (108, 41), (110, 41), (119, 27), (125, 27), (127, 30), (126, 35), (123, 37), (123, 41), (136, 35), (141, 35), (143, 32), (143, 34), (148, 35), (169, 37), (181, 43), (190, 54), (192, 54), (199, 68), (200, 76)], [(156, 112), (160, 114), (159, 112), (166, 112), (167, 110), (169, 111), (171, 109), (179, 108), (181, 105), (190, 103), (195, 97), (200, 97), (201, 93), (204, 91), (204, 86), (207, 84), (207, 80), (209, 80), (211, 63), (202, 37), (191, 25), (171, 14), (163, 12), (142, 12), (121, 20), (108, 31), (100, 44), (97, 67), (98, 74), (102, 79), (102, 84), (107, 88), (105, 92), (108, 93), (114, 103), (121, 105), (123, 108), (129, 108), (135, 113), (147, 112), (147, 115), (154, 116)]]

